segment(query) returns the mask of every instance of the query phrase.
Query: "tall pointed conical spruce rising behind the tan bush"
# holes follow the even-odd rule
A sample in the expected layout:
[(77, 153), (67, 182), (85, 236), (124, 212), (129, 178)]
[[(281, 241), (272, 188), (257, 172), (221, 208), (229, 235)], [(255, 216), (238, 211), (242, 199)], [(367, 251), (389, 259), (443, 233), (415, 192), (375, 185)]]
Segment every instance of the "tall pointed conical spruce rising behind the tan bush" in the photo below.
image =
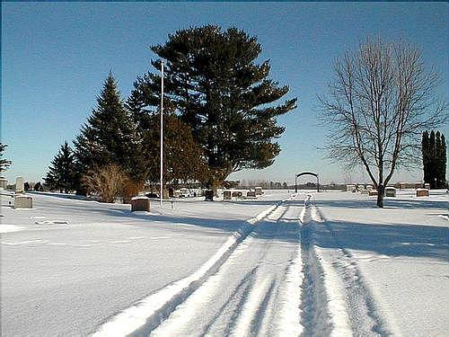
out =
[(134, 180), (145, 181), (138, 159), (141, 141), (136, 134), (136, 124), (120, 99), (111, 73), (97, 97), (97, 107), (92, 110), (74, 143), (82, 173), (95, 166), (119, 164)]

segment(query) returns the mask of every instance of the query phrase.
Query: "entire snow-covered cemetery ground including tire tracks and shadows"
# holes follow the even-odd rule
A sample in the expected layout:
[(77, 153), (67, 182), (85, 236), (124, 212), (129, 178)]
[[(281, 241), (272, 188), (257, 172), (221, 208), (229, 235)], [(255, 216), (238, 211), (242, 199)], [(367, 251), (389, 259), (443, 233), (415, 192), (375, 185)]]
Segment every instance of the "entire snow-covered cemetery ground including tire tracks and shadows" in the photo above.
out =
[(150, 213), (2, 196), (2, 336), (445, 336), (447, 194), (413, 192), (383, 209), (266, 191)]

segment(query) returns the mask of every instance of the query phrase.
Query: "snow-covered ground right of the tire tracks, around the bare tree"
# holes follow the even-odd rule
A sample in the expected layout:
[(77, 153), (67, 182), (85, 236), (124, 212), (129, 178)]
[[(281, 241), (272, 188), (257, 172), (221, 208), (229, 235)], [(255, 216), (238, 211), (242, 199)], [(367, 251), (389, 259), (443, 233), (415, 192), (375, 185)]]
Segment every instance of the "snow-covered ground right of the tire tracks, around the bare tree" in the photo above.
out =
[(399, 191), (397, 198), (386, 198), (383, 209), (375, 208), (375, 197), (315, 196), (317, 253), (343, 280), (348, 313), (369, 317), (350, 316), (353, 331), (448, 334), (448, 197), (445, 191), (432, 191), (430, 198), (414, 193)]

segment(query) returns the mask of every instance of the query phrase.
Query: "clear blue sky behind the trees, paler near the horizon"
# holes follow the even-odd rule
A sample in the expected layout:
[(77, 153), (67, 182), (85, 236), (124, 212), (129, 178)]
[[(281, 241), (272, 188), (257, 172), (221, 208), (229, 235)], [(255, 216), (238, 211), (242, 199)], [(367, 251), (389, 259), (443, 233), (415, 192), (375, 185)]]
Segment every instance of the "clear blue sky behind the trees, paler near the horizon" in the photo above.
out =
[[(1, 138), (13, 160), (4, 176), (39, 181), (60, 144), (79, 132), (110, 70), (125, 99), (154, 58), (150, 46), (176, 30), (213, 23), (257, 36), (271, 78), (298, 98), (297, 109), (279, 119), (286, 133), (276, 163), (230, 178), (294, 182), (295, 173), (311, 170), (321, 182), (366, 179), (342, 173), (317, 150), (325, 129), (316, 95), (326, 93), (335, 58), (381, 36), (422, 49), (447, 99), (448, 9), (447, 3), (2, 3)], [(420, 179), (417, 169), (393, 182)]]

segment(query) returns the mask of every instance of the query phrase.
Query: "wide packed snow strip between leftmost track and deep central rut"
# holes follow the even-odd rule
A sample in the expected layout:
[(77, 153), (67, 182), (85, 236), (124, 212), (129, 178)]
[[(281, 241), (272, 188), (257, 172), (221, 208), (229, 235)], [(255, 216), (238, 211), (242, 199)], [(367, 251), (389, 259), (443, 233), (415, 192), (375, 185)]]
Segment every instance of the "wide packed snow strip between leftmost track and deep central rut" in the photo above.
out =
[[(296, 300), (299, 285), (288, 288), (286, 277), (299, 247), (299, 221), (292, 208), (283, 204), (265, 217), (216, 274), (176, 307), (150, 335), (294, 335), (289, 330), (291, 325), (280, 333), (277, 324), (280, 313), (286, 312), (284, 299), (290, 304), (292, 297), (295, 302), (299, 301)], [(287, 217), (287, 213), (295, 220)], [(286, 289), (293, 291), (286, 294)], [(295, 317), (295, 327), (298, 318), (299, 315)]]

